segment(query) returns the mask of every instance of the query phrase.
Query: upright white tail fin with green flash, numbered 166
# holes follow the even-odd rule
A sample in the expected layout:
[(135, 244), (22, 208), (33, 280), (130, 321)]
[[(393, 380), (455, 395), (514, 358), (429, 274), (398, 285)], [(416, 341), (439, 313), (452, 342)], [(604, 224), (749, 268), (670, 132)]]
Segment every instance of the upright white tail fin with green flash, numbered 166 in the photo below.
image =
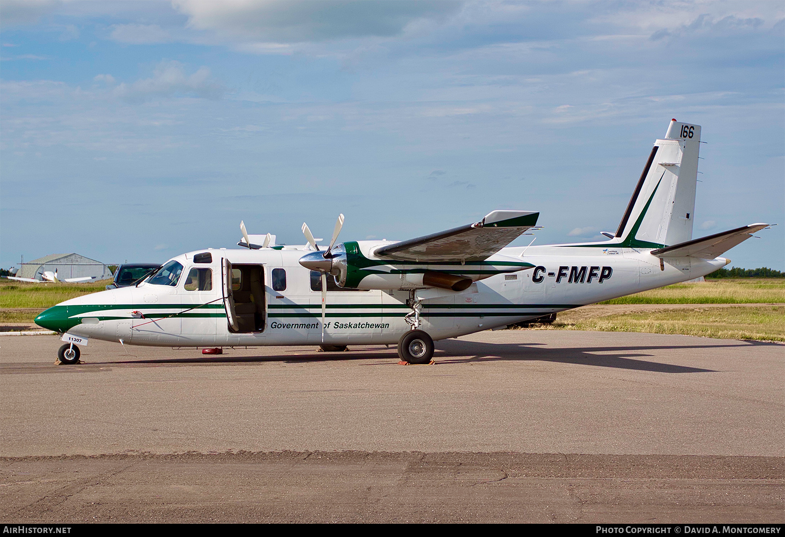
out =
[(700, 126), (670, 121), (616, 231), (620, 246), (662, 248), (692, 239), (699, 145)]

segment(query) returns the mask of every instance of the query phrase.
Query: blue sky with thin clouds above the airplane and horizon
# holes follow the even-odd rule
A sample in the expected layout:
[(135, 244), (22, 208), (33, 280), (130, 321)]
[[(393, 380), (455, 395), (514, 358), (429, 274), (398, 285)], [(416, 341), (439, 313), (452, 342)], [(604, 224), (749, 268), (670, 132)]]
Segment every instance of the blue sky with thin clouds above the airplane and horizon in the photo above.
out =
[[(615, 231), (671, 118), (694, 236), (785, 269), (783, 2), (0, 2), (0, 266), (250, 233), (408, 239), (539, 210)], [(527, 241), (528, 243), (528, 241)]]

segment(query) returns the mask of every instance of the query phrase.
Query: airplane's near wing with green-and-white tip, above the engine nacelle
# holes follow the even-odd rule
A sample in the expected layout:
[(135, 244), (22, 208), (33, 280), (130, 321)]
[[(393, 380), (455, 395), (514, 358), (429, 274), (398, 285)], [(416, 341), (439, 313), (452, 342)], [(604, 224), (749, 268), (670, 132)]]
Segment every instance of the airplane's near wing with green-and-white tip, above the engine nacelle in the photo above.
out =
[(378, 258), (399, 261), (483, 261), (537, 224), (531, 210), (495, 210), (479, 222), (381, 247)]

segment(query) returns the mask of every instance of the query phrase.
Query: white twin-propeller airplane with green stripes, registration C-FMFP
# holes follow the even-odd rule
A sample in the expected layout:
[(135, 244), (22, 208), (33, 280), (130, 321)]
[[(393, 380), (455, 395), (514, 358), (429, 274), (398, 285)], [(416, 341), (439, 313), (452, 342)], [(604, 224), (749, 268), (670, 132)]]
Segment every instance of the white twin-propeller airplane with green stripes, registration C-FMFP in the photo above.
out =
[[(616, 232), (607, 240), (509, 247), (539, 213), (494, 210), (482, 220), (400, 242), (206, 249), (170, 259), (136, 286), (55, 305), (35, 318), (63, 334), (60, 363), (89, 338), (221, 353), (225, 347), (397, 345), (429, 363), (434, 341), (553, 315), (705, 276), (725, 251), (767, 224), (692, 239), (700, 126), (671, 120), (656, 140)], [(264, 238), (263, 238), (264, 237)]]

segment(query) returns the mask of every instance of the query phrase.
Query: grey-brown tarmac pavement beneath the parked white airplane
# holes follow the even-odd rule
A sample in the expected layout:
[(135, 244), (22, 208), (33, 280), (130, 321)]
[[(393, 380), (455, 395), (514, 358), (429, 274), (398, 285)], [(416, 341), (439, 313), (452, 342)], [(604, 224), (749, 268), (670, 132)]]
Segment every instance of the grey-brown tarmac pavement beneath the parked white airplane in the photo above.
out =
[(3, 521), (785, 521), (785, 345), (59, 345), (0, 338)]

